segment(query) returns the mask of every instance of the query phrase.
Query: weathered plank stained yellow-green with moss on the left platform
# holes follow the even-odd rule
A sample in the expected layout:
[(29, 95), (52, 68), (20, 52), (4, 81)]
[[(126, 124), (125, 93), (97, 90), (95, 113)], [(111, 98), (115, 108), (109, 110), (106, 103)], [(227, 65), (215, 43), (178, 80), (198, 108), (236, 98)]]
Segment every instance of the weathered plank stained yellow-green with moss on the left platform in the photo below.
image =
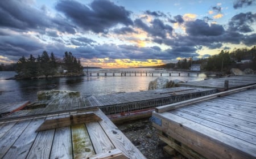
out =
[(73, 158), (87, 158), (95, 154), (84, 124), (72, 126)]

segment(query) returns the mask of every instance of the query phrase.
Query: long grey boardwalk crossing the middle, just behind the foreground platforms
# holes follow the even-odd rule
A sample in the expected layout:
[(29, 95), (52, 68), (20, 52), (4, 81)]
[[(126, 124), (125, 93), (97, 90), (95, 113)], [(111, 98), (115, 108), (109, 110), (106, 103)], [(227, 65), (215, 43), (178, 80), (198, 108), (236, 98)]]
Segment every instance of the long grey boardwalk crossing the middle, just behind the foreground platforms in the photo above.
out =
[[(143, 92), (35, 101), (31, 102), (31, 104), (27, 105), (23, 110), (15, 111), (11, 114), (2, 114), (2, 120), (15, 117), (26, 118), (28, 116), (66, 113), (71, 110), (83, 111), (84, 109), (95, 107), (99, 107), (106, 115), (130, 113), (134, 110), (154, 109), (156, 106), (207, 96), (216, 92), (216, 89), (210, 88), (176, 87)], [(5, 107), (1, 106), (0, 112), (1, 108)], [(4, 110), (5, 109), (2, 109), (2, 111)], [(149, 115), (151, 115), (151, 111)]]

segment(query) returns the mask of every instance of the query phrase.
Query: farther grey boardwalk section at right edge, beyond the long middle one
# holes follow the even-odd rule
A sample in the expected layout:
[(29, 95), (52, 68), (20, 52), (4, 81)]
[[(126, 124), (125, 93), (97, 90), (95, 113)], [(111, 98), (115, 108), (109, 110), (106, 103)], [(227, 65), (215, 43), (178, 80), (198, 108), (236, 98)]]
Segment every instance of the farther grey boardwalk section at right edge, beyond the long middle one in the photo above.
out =
[(223, 89), (225, 80), (229, 81), (229, 89), (245, 87), (246, 85), (256, 84), (256, 75), (231, 76), (227, 78), (215, 78), (200, 81), (191, 81), (188, 83), (180, 83), (181, 87), (200, 87)]

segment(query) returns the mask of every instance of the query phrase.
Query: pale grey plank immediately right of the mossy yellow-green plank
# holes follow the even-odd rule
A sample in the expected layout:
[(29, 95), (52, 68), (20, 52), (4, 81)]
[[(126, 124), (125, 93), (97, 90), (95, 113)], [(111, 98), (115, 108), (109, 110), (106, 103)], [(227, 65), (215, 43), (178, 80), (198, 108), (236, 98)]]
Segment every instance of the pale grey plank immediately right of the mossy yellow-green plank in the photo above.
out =
[(98, 122), (86, 123), (86, 128), (96, 154), (105, 153), (115, 148)]

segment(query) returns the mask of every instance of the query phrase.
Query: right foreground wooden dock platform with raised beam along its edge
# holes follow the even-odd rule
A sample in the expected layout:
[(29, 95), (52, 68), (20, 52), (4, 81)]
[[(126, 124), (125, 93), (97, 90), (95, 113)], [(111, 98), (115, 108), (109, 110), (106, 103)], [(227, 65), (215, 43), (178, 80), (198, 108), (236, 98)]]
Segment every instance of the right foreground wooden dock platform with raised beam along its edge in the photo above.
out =
[(256, 85), (239, 89), (160, 106), (153, 126), (188, 158), (256, 158)]

